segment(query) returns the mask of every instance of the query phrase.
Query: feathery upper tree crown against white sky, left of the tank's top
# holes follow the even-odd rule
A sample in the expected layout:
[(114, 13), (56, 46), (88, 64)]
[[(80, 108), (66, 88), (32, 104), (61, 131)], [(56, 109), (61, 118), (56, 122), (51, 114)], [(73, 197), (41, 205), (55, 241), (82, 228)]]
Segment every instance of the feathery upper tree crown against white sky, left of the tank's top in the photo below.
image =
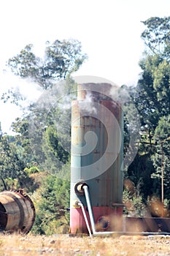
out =
[(15, 75), (31, 78), (44, 90), (77, 71), (87, 59), (80, 42), (75, 39), (47, 42), (44, 59), (36, 56), (32, 48), (33, 45), (26, 45), (17, 56), (9, 59), (8, 66)]

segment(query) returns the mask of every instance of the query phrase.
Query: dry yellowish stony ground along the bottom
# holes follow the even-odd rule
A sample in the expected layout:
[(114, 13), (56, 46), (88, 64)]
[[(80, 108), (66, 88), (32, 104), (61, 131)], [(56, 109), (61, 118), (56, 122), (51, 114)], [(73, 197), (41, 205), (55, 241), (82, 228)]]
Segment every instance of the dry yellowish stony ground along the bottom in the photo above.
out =
[(15, 255), (166, 256), (170, 255), (170, 236), (0, 235), (0, 256)]

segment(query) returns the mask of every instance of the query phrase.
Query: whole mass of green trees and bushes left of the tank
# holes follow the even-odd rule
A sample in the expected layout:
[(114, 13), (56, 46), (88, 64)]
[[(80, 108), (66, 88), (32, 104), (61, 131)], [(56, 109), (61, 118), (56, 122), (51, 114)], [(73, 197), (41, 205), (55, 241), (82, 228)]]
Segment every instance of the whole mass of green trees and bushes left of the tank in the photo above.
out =
[[(35, 55), (33, 45), (26, 45), (8, 61), (15, 75), (29, 78), (45, 91), (36, 104), (28, 107), (29, 112), (12, 124), (14, 138), (1, 137), (1, 184), (6, 184), (7, 189), (22, 187), (32, 194), (36, 207), (34, 233), (51, 235), (69, 230), (68, 102), (75, 98), (77, 90), (71, 74), (85, 59), (80, 42), (71, 39), (47, 42), (43, 59)], [(66, 84), (55, 86), (65, 78)], [(11, 90), (2, 99), (19, 104), (23, 97), (19, 91)]]

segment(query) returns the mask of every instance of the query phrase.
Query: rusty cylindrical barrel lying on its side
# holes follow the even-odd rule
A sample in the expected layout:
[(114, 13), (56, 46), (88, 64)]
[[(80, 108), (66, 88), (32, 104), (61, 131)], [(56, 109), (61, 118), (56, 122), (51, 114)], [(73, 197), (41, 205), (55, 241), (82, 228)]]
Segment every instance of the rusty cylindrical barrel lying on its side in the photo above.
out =
[(22, 189), (0, 192), (0, 230), (28, 233), (34, 225), (34, 203)]

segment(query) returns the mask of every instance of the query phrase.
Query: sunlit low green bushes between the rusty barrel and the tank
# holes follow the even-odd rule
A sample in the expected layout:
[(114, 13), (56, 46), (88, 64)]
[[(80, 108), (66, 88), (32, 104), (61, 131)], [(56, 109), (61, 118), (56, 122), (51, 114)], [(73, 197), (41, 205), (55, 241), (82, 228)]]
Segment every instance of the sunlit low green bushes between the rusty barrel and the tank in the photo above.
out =
[(36, 206), (33, 233), (52, 235), (61, 232), (61, 226), (64, 231), (69, 230), (69, 192), (69, 181), (53, 175), (43, 179), (41, 188), (33, 195)]

